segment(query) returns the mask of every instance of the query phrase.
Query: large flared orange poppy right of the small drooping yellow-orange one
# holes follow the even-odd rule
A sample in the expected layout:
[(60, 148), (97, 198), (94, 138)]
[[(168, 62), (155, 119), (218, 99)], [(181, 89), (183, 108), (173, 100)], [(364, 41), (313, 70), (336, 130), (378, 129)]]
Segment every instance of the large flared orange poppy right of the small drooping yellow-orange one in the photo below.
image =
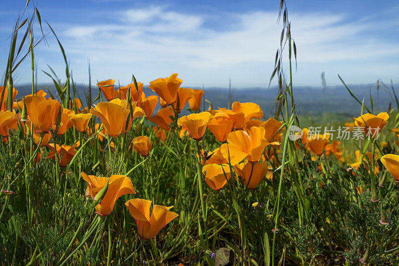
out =
[[(110, 102), (99, 102), (94, 108), (91, 107), (90, 113), (101, 118), (105, 131), (109, 136), (118, 136), (125, 130), (126, 119), (130, 113), (126, 104), (118, 104), (119, 99)], [(122, 100), (119, 100), (122, 101)], [(141, 109), (141, 108), (140, 108)]]

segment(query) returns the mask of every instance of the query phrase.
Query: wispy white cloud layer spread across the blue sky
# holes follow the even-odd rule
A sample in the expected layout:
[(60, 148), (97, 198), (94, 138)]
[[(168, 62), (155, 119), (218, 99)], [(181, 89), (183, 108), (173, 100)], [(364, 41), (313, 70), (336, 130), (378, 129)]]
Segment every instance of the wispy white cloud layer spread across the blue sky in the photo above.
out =
[[(236, 26), (226, 30), (205, 26), (209, 14), (183, 14), (165, 6), (115, 11), (115, 15), (119, 22), (70, 24), (58, 31), (71, 65), (90, 58), (93, 69), (98, 66), (100, 79), (104, 75), (118, 74), (121, 76), (117, 78), (123, 82), (129, 81), (123, 76), (130, 77), (131, 68), (149, 72), (144, 76), (154, 78), (161, 75), (154, 71), (181, 70), (192, 85), (201, 85), (198, 83), (209, 78), (209, 73), (239, 75), (242, 65), (247, 68), (241, 73), (259, 73), (254, 67), (261, 64), (265, 67), (261, 73), (267, 76), (279, 47), (281, 25), (276, 23), (275, 12), (230, 14), (228, 19)], [(303, 63), (307, 67), (298, 75), (299, 80), (302, 75), (304, 82), (310, 76), (304, 72), (317, 71), (319, 76), (321, 71), (328, 71), (328, 64), (332, 62), (336, 65), (349, 61), (356, 65), (358, 60), (399, 55), (398, 43), (368, 33), (378, 27), (368, 20), (347, 22), (345, 14), (328, 13), (291, 13), (290, 19), (299, 66)], [(391, 22), (398, 24), (398, 21)], [(312, 68), (312, 64), (319, 69)], [(251, 65), (254, 66), (251, 68)], [(373, 69), (382, 72), (381, 68)], [(243, 84), (245, 76), (248, 75), (241, 77)], [(220, 84), (216, 76), (206, 81)]]

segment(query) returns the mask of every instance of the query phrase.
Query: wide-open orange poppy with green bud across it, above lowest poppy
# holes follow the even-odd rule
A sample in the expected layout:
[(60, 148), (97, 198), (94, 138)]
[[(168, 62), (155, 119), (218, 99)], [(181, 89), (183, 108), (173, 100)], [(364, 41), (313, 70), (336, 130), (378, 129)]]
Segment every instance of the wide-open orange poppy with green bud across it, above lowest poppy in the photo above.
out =
[[(107, 184), (107, 177), (88, 176), (81, 173), (83, 180), (87, 182), (89, 194), (92, 199)], [(126, 194), (136, 194), (132, 181), (124, 175), (112, 175), (109, 177), (108, 190), (105, 193), (101, 203), (96, 205), (96, 211), (99, 215), (109, 215), (114, 209), (116, 200)]]

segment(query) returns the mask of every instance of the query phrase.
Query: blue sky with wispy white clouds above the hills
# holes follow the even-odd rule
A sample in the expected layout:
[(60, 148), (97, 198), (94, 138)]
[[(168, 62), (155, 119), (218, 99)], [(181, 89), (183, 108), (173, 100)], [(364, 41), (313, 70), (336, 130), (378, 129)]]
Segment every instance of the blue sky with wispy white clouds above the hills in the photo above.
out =
[[(0, 76), (9, 36), (24, 0), (0, 0)], [(74, 79), (114, 78), (148, 84), (179, 73), (185, 86), (266, 87), (279, 47), (279, 0), (31, 0), (61, 40)], [(298, 49), (294, 85), (399, 82), (399, 3), (394, 0), (287, 0)], [(32, 9), (28, 8), (28, 14)], [(37, 25), (36, 25), (37, 29)], [(48, 31), (44, 26), (44, 31)], [(38, 36), (39, 31), (36, 31)], [(35, 49), (38, 81), (50, 65), (61, 78), (64, 64), (55, 38)], [(30, 82), (30, 60), (14, 83)]]

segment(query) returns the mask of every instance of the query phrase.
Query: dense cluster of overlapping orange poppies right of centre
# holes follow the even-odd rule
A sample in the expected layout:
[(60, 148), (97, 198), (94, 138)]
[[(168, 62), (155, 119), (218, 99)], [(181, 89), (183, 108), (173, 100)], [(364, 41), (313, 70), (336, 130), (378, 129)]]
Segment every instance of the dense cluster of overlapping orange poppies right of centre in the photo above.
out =
[[(255, 103), (234, 102), (232, 110), (219, 108), (208, 112), (193, 113), (178, 119), (178, 125), (193, 139), (199, 141), (208, 128), (222, 143), (207, 154), (202, 152), (204, 164), (202, 173), (206, 184), (213, 190), (220, 190), (233, 174), (229, 164), (234, 166), (248, 189), (254, 189), (268, 174), (267, 162), (270, 153), (280, 144), (282, 123), (273, 118), (261, 121), (263, 112)], [(266, 147), (269, 150), (266, 151)]]

